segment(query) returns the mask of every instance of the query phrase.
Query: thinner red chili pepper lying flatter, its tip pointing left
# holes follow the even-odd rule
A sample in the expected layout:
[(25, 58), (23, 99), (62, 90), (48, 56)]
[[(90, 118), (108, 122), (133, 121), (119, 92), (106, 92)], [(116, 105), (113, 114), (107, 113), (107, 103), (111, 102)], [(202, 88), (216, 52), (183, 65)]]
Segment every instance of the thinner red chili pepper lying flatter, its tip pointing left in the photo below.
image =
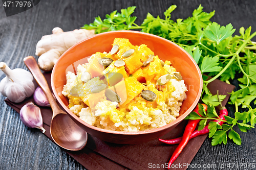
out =
[[(220, 110), (220, 115), (219, 115), (220, 119), (226, 120), (224, 115), (227, 116), (227, 114), (228, 114), (227, 109), (225, 107), (222, 107), (221, 110)], [(214, 122), (219, 122), (220, 126), (224, 123), (224, 122), (219, 121), (219, 120), (214, 120)], [(204, 129), (202, 129), (201, 131), (195, 130), (193, 132), (193, 134), (191, 134), (189, 139), (192, 139), (194, 137), (197, 137), (199, 135), (204, 135), (204, 134), (207, 134), (207, 133), (209, 133), (208, 125), (205, 126)], [(164, 142), (164, 143), (167, 143), (167, 144), (179, 144), (182, 140), (182, 137), (178, 137), (178, 138), (170, 139), (170, 140), (163, 140), (163, 139), (159, 139), (159, 140)]]

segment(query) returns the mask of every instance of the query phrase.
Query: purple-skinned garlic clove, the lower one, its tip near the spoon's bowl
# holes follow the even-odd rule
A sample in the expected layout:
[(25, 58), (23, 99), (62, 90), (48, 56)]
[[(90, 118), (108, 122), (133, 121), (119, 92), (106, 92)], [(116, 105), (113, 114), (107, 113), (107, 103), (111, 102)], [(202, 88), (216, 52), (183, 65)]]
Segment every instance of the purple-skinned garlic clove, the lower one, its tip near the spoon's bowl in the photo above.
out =
[(42, 127), (42, 115), (39, 107), (32, 102), (27, 103), (20, 109), (19, 117), (29, 128), (37, 128), (45, 133), (45, 129)]

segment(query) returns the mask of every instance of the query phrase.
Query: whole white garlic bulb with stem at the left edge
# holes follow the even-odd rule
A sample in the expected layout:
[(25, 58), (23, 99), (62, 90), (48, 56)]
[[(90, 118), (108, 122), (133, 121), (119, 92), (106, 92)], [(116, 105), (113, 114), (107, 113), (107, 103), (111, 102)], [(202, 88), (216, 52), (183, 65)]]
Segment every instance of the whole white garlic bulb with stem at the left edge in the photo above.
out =
[(0, 92), (10, 101), (19, 103), (31, 96), (35, 90), (32, 74), (22, 68), (11, 70), (6, 63), (0, 63), (6, 77), (0, 82)]

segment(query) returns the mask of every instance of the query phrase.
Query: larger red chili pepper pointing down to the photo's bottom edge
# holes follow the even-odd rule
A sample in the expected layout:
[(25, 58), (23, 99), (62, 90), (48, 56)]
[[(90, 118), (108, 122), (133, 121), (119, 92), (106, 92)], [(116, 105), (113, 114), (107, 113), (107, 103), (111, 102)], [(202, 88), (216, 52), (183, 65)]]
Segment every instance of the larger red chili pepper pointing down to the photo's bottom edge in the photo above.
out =
[[(207, 106), (205, 104), (202, 104), (204, 109), (207, 110)], [(198, 113), (199, 108), (198, 106), (194, 109), (194, 112)], [(198, 113), (199, 114), (199, 113)], [(200, 115), (200, 114), (199, 114)], [(188, 120), (187, 126), (185, 128), (184, 134), (182, 136), (182, 140), (176, 150), (174, 151), (172, 157), (170, 158), (170, 161), (168, 163), (168, 169), (170, 168), (170, 165), (177, 159), (177, 157), (180, 155), (181, 151), (187, 144), (192, 132), (196, 129), (197, 124), (199, 123), (200, 119), (197, 120)]]

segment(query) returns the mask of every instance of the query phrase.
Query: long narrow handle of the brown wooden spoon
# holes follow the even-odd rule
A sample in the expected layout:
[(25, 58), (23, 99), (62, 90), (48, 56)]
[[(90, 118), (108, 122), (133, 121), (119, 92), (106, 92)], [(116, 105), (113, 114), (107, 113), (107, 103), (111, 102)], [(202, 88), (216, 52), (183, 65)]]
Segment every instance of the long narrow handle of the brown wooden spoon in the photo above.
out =
[[(28, 56), (26, 58), (24, 58), (24, 63), (26, 64), (26, 66), (29, 68), (29, 70), (31, 71), (32, 75), (34, 76), (37, 84), (42, 88), (42, 90), (45, 92), (46, 97), (51, 105), (51, 108), (53, 110), (53, 117), (56, 115), (56, 113), (58, 112), (63, 112), (58, 104), (56, 103), (56, 101), (54, 100), (53, 96), (52, 96), (52, 92), (48, 86), (48, 83), (46, 81), (46, 78), (44, 77), (44, 75), (42, 75), (37, 62), (35, 60), (35, 58), (33, 56)], [(53, 118), (52, 117), (52, 118)]]

